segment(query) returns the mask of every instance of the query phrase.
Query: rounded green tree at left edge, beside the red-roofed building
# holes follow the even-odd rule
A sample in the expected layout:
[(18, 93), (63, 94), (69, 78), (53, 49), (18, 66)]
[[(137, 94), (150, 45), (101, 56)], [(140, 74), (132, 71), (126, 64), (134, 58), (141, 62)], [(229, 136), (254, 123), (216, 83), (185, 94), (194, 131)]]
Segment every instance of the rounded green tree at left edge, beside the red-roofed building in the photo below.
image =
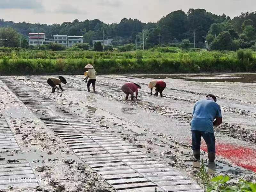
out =
[(14, 28), (0, 28), (0, 46), (3, 47), (19, 47), (20, 33)]

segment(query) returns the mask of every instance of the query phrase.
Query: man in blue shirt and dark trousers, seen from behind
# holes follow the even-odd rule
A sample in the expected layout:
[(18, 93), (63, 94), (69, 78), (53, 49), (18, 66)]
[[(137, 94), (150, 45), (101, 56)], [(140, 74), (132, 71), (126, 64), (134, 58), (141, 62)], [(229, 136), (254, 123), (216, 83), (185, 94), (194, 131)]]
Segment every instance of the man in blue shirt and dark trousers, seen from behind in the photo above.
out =
[(198, 160), (200, 159), (201, 137), (204, 138), (207, 145), (209, 162), (215, 160), (213, 127), (222, 123), (220, 106), (216, 101), (216, 97), (209, 94), (204, 99), (197, 101), (193, 109), (191, 120), (192, 149), (195, 158)]

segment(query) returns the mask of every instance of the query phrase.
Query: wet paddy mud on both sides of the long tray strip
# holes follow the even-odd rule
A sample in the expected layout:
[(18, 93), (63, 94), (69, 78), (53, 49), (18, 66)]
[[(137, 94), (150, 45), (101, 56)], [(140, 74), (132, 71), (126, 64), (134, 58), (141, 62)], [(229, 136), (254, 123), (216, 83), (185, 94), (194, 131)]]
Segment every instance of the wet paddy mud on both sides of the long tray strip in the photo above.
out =
[[(90, 167), (84, 167), (86, 171), (83, 172), (79, 170), (82, 163), (79, 157), (17, 98), (17, 93), (7, 86), (7, 80), (14, 79), (20, 86), (32, 88), (35, 94), (45, 95), (195, 180), (198, 180), (196, 173), (200, 163), (192, 155), (191, 112), (197, 100), (207, 94), (215, 94), (222, 110), (223, 124), (215, 129), (215, 164), (207, 162), (207, 147), (204, 142), (202, 144), (201, 158), (207, 171), (212, 176), (227, 174), (234, 180), (241, 177), (252, 181), (256, 179), (256, 74), (100, 75), (96, 93), (87, 92), (86, 83), (82, 81), (84, 76), (71, 75), (65, 76), (68, 84), (62, 86), (64, 92), (59, 94), (51, 93), (51, 87), (46, 83), (49, 77), (0, 78), (1, 114), (23, 151), (17, 158), (27, 159), (37, 175), (58, 181), (50, 186), (41, 185), (41, 188), (51, 191), (65, 186), (66, 191), (78, 191), (84, 182), (77, 178), (83, 175), (88, 177), (86, 182), (91, 182), (94, 188), (113, 190), (100, 177), (95, 180), (95, 173)], [(153, 79), (166, 82), (163, 98), (149, 94), (147, 85)], [(120, 87), (125, 82), (142, 84), (139, 100), (124, 100)], [(22, 90), (26, 94), (28, 89)], [(11, 154), (0, 154), (1, 157), (6, 160), (11, 158)], [(75, 163), (67, 164), (69, 160), (66, 159)], [(36, 167), (44, 167), (44, 171), (39, 169), (38, 172)], [(74, 177), (69, 177), (70, 173)], [(73, 182), (76, 182), (76, 187), (71, 187)], [(91, 186), (87, 186), (89, 191), (88, 187)]]

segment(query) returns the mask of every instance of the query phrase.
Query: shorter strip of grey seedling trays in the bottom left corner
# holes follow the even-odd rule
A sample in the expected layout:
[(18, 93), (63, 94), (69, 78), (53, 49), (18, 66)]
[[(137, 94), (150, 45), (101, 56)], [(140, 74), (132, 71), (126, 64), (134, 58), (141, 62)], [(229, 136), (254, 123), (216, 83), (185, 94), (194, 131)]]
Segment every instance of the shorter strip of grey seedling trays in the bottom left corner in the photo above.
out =
[[(38, 181), (0, 110), (0, 190), (35, 188)], [(26, 181), (24, 178), (28, 178)], [(17, 180), (23, 180), (18, 183)]]

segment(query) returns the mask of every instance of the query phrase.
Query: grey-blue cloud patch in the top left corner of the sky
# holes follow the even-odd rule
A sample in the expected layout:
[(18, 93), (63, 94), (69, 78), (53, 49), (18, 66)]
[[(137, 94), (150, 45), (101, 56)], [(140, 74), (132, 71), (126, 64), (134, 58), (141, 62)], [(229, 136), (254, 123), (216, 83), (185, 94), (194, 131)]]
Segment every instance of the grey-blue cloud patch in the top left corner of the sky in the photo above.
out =
[(39, 0), (0, 0), (0, 9), (42, 9)]

